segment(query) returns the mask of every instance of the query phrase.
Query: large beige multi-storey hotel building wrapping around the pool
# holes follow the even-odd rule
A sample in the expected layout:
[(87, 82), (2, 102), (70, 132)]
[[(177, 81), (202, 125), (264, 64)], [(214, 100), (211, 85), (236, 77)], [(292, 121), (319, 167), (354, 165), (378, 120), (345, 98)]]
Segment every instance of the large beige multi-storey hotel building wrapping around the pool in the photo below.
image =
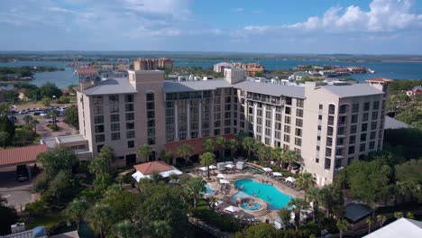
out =
[(120, 164), (141, 161), (136, 148), (150, 144), (150, 160), (189, 143), (196, 153), (207, 138), (244, 132), (300, 155), (301, 169), (319, 185), (370, 151), (382, 148), (389, 79), (365, 84), (307, 83), (290, 87), (246, 80), (245, 69), (225, 69), (225, 78), (165, 81), (160, 70), (130, 70), (129, 78), (78, 89), (79, 131), (92, 156), (104, 145)]

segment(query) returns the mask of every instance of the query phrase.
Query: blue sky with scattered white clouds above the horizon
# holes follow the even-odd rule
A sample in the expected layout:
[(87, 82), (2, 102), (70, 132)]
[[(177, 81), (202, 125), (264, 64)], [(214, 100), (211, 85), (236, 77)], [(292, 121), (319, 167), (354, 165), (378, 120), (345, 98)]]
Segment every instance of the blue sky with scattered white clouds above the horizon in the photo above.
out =
[(413, 0), (2, 0), (0, 50), (422, 54)]

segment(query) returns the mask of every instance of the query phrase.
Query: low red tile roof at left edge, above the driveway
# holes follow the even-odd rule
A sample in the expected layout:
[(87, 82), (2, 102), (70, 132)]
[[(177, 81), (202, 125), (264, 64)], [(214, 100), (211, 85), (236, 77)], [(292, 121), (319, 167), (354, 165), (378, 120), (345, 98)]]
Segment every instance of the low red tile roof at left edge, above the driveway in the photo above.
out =
[(48, 151), (48, 147), (45, 144), (0, 150), (0, 166), (33, 163), (39, 154), (46, 151)]

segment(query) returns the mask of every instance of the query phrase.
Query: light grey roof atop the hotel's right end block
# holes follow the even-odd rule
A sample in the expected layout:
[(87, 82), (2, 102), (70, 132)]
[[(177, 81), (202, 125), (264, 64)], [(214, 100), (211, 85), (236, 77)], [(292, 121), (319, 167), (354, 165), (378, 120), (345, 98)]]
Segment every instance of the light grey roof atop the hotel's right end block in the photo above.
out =
[(381, 90), (369, 84), (344, 84), (321, 86), (339, 97), (370, 96), (384, 94)]

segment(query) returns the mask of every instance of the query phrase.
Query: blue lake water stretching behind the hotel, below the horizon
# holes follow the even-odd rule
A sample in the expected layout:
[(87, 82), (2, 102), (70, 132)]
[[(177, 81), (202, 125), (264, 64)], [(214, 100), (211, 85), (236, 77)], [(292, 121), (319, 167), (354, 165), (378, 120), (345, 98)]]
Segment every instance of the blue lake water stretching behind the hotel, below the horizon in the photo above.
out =
[[(174, 66), (199, 66), (212, 67), (224, 59), (174, 59)], [(367, 78), (383, 77), (394, 79), (421, 79), (422, 62), (345, 62), (328, 60), (293, 60), (293, 59), (243, 59), (243, 62), (260, 62), (266, 69), (292, 69), (300, 64), (339, 65), (339, 66), (364, 66), (375, 70), (375, 74), (353, 75), (359, 81)], [(32, 83), (41, 86), (46, 82), (52, 82), (60, 88), (66, 88), (69, 84), (78, 83), (78, 77), (73, 73), (74, 68), (67, 67), (65, 61), (14, 61), (0, 62), (0, 67), (17, 66), (55, 66), (65, 69), (64, 71), (36, 73)]]

